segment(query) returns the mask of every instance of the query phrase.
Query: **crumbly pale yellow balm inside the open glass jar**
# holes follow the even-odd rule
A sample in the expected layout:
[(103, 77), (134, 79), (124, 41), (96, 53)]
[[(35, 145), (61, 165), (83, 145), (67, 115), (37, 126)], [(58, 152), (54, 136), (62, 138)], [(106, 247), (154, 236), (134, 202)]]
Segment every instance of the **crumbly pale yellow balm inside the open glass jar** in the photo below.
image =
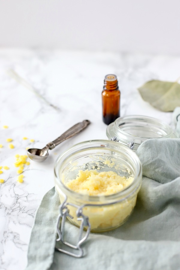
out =
[[(65, 185), (77, 193), (89, 196), (102, 196), (103, 198), (124, 190), (133, 180), (134, 177), (132, 176), (126, 178), (125, 176), (119, 176), (113, 171), (79, 170), (77, 177), (66, 182)], [(85, 206), (83, 214), (89, 218), (91, 231), (105, 231), (122, 225), (131, 214), (135, 204), (136, 196), (112, 205)], [(76, 220), (77, 209), (71, 206), (69, 206), (69, 209), (70, 215), (74, 217), (71, 222), (73, 221), (76, 225), (80, 225), (80, 222)]]

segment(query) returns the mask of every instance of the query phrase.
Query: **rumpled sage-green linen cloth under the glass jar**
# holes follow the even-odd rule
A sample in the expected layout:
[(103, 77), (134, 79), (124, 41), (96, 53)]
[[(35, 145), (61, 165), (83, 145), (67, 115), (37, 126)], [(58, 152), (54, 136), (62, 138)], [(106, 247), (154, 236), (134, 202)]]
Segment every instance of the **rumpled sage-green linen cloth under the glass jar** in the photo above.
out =
[[(133, 214), (115, 230), (90, 233), (82, 258), (55, 250), (59, 199), (54, 187), (49, 190), (36, 213), (26, 270), (180, 269), (179, 153), (180, 139), (140, 145), (143, 182)], [(79, 229), (67, 221), (66, 230), (73, 238)]]

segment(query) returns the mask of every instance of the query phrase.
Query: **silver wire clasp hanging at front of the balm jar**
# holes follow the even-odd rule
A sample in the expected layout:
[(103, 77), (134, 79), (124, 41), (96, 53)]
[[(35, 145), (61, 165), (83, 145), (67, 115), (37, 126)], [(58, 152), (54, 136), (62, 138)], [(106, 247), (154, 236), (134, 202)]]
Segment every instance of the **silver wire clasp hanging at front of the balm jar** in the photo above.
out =
[[(69, 218), (73, 219), (73, 217), (69, 214), (69, 209), (67, 208), (67, 205), (71, 205), (71, 206), (77, 208), (77, 211), (76, 211), (77, 220), (81, 220), (81, 224), (79, 227), (79, 236), (78, 236), (78, 240), (77, 240), (76, 245), (73, 245), (73, 244), (64, 240), (64, 225), (65, 225), (66, 218), (69, 217)], [(57, 223), (58, 239), (56, 239), (56, 241), (57, 242), (61, 241), (61, 243), (63, 243), (64, 245), (66, 245), (72, 249), (78, 250), (79, 253), (76, 254), (74, 252), (70, 252), (68, 250), (61, 249), (58, 247), (55, 247), (55, 249), (60, 251), (60, 252), (65, 253), (67, 255), (76, 257), (76, 258), (81, 258), (84, 255), (84, 252), (80, 246), (88, 238), (88, 235), (89, 235), (90, 230), (91, 230), (91, 224), (89, 222), (89, 219), (87, 216), (85, 216), (82, 213), (82, 208), (83, 208), (82, 206), (78, 206), (78, 205), (75, 205), (73, 203), (67, 202), (67, 196), (65, 196), (64, 202), (61, 203), (61, 205), (59, 207), (60, 214), (59, 214), (58, 223)], [(84, 226), (87, 227), (87, 230), (86, 230), (85, 236), (83, 237), (82, 234), (83, 234)]]

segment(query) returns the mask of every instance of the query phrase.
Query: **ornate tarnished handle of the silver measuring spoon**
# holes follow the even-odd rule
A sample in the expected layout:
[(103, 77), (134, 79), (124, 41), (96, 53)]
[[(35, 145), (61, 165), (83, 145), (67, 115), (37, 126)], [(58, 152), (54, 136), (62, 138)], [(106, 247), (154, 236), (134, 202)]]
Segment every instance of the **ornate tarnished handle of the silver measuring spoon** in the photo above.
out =
[[(59, 143), (62, 143), (63, 141), (69, 139), (70, 137), (73, 137), (83, 129), (85, 129), (90, 124), (89, 120), (84, 120), (80, 123), (77, 123), (67, 131), (65, 131), (60, 137), (52, 141), (51, 143), (48, 143), (47, 146), (50, 146), (49, 149), (53, 149), (55, 146), (57, 146)], [(50, 144), (50, 145), (49, 145)]]

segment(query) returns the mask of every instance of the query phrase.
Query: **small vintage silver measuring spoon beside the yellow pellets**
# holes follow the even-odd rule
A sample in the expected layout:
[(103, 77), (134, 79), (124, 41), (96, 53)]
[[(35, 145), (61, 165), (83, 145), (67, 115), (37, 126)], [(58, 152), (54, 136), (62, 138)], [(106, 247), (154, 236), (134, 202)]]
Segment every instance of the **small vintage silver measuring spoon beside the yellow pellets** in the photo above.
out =
[(85, 129), (89, 124), (90, 124), (89, 120), (84, 120), (80, 123), (77, 123), (70, 129), (68, 129), (66, 132), (64, 132), (60, 137), (46, 144), (46, 146), (43, 149), (37, 149), (37, 148), (28, 149), (27, 150), (28, 157), (34, 161), (38, 161), (38, 162), (44, 161), (49, 156), (48, 150), (52, 150), (58, 144), (69, 139), (70, 137), (73, 137), (74, 135), (76, 135), (77, 133)]

